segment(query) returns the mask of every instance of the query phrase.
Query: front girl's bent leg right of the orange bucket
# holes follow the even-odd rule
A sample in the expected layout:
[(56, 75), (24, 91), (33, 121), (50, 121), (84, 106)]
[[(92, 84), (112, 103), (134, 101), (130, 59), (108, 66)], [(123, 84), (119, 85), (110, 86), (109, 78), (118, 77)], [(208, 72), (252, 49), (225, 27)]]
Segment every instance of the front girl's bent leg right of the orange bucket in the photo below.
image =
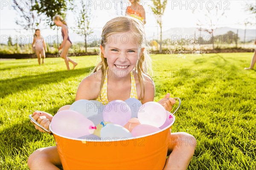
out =
[(194, 136), (179, 132), (171, 133), (168, 152), (172, 152), (166, 160), (164, 170), (186, 170), (194, 155), (196, 140)]

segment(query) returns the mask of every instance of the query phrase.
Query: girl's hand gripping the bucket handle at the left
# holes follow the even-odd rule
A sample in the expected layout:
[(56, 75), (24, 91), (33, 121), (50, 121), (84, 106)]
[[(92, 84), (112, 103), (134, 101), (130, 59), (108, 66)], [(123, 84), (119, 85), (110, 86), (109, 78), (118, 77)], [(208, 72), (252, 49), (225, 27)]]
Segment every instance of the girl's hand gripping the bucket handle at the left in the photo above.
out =
[[(49, 130), (49, 125), (52, 121), (52, 117), (53, 116), (47, 112), (35, 111), (33, 113), (33, 118), (35, 119), (35, 121), (37, 121), (39, 124), (41, 124), (41, 126), (45, 127), (48, 130)], [(34, 124), (34, 123), (32, 122), (32, 124)], [(38, 127), (36, 124), (34, 124), (34, 126), (35, 126), (36, 130), (39, 130), (40, 132), (47, 133), (46, 131), (44, 131), (40, 127)]]

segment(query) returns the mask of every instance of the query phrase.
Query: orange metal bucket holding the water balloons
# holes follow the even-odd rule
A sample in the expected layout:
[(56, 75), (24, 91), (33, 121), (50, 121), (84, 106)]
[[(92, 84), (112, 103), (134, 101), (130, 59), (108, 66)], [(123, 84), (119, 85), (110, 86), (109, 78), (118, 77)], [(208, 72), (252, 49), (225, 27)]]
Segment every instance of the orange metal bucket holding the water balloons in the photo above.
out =
[(116, 141), (68, 138), (52, 131), (64, 170), (163, 170), (173, 121), (156, 133)]

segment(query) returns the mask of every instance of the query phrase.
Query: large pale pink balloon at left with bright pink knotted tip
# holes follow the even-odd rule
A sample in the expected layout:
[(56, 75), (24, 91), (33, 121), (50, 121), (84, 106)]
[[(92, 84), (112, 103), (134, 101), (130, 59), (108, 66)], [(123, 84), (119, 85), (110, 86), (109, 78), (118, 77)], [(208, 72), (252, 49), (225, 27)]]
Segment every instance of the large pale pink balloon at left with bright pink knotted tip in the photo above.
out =
[(51, 129), (53, 133), (70, 138), (79, 138), (92, 134), (96, 127), (81, 113), (73, 110), (62, 110), (53, 116)]

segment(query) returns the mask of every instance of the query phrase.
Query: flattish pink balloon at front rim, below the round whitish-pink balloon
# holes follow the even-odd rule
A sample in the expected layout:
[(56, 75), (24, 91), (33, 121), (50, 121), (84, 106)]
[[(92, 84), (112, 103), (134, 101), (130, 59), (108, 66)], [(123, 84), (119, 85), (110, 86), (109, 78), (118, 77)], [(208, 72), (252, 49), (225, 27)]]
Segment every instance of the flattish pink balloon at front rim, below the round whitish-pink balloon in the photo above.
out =
[(158, 127), (154, 127), (149, 124), (140, 124), (133, 128), (133, 130), (131, 131), (131, 134), (133, 137), (137, 137), (142, 135), (148, 135), (150, 133), (154, 133), (159, 130), (160, 129)]

